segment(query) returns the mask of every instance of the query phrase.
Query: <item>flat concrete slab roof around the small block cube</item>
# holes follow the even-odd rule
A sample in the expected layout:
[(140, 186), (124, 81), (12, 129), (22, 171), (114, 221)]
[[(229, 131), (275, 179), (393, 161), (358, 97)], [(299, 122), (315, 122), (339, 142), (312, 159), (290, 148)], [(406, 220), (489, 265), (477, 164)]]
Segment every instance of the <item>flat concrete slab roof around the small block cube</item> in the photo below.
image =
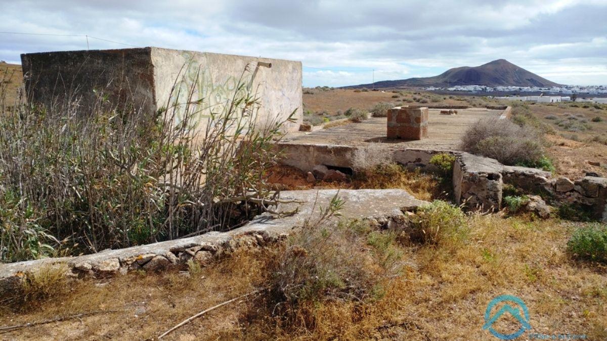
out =
[(468, 127), (485, 117), (499, 117), (504, 110), (458, 109), (458, 115), (441, 115), (441, 109), (429, 110), (428, 137), (406, 141), (387, 138), (387, 118), (370, 118), (314, 132), (289, 133), (279, 143), (285, 158), (282, 163), (308, 172), (317, 164), (353, 167), (356, 150), (366, 147), (386, 150), (392, 161), (405, 167), (437, 171), (430, 158), (438, 153), (459, 154), (461, 137)]

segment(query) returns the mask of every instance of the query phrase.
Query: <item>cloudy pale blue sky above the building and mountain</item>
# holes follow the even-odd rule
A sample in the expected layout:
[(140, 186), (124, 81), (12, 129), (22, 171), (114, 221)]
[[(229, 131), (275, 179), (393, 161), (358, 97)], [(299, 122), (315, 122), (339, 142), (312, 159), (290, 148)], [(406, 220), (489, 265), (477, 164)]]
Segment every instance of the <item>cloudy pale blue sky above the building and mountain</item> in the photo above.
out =
[(87, 49), (88, 35), (89, 49), (302, 61), (304, 86), (434, 76), (500, 58), (556, 83), (607, 85), (607, 0), (0, 0), (0, 32), (44, 34), (0, 33), (0, 60), (16, 64), (21, 53)]

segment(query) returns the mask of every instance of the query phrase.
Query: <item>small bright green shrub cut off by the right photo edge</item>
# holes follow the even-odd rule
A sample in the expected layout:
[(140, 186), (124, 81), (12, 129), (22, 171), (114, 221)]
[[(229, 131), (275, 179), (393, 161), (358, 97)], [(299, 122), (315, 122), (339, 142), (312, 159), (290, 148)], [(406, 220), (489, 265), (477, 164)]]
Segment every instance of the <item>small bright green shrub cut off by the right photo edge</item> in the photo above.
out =
[(575, 230), (567, 242), (574, 257), (607, 263), (607, 225), (593, 223)]

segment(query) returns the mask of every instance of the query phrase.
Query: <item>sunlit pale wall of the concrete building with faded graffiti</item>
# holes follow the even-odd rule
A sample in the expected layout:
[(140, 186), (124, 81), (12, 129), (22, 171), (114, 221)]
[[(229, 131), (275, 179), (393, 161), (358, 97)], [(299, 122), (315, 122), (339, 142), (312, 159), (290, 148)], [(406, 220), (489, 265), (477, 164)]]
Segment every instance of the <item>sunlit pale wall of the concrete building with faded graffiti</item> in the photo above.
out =
[(296, 131), (302, 123), (301, 62), (158, 48), (152, 48), (151, 59), (158, 106), (168, 106), (169, 96), (187, 98), (193, 91), (193, 100), (203, 99), (199, 113), (203, 121), (211, 110), (225, 106), (239, 84), (245, 84), (260, 100), (259, 123), (287, 118), (294, 110), (297, 122), (287, 123), (287, 130)]

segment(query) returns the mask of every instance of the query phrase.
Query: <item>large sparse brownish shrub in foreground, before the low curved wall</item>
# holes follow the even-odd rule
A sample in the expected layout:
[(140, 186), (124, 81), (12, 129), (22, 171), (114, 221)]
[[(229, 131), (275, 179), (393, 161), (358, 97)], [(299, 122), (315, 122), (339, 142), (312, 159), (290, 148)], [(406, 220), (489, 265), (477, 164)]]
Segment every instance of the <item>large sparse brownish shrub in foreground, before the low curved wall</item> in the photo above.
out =
[(297, 328), (314, 323), (315, 306), (381, 299), (400, 268), (395, 237), (361, 221), (305, 226), (288, 239), (270, 269), (268, 306), (280, 316), (276, 322)]

